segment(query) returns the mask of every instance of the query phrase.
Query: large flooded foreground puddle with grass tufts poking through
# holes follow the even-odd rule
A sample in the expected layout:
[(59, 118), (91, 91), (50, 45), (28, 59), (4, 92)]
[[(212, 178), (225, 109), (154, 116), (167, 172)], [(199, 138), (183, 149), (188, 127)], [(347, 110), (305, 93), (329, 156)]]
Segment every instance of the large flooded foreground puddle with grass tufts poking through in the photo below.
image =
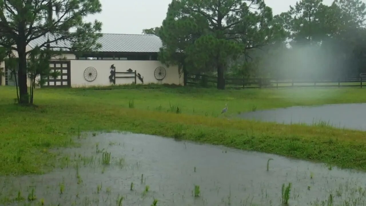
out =
[[(89, 134), (81, 142), (81, 148), (60, 150), (67, 154), (63, 169), (0, 177), (0, 200), (5, 205), (150, 206), (157, 199), (160, 206), (279, 206), (282, 184), (292, 183), (291, 206), (366, 204), (361, 172), (149, 135)], [(105, 151), (111, 152), (109, 161)]]

